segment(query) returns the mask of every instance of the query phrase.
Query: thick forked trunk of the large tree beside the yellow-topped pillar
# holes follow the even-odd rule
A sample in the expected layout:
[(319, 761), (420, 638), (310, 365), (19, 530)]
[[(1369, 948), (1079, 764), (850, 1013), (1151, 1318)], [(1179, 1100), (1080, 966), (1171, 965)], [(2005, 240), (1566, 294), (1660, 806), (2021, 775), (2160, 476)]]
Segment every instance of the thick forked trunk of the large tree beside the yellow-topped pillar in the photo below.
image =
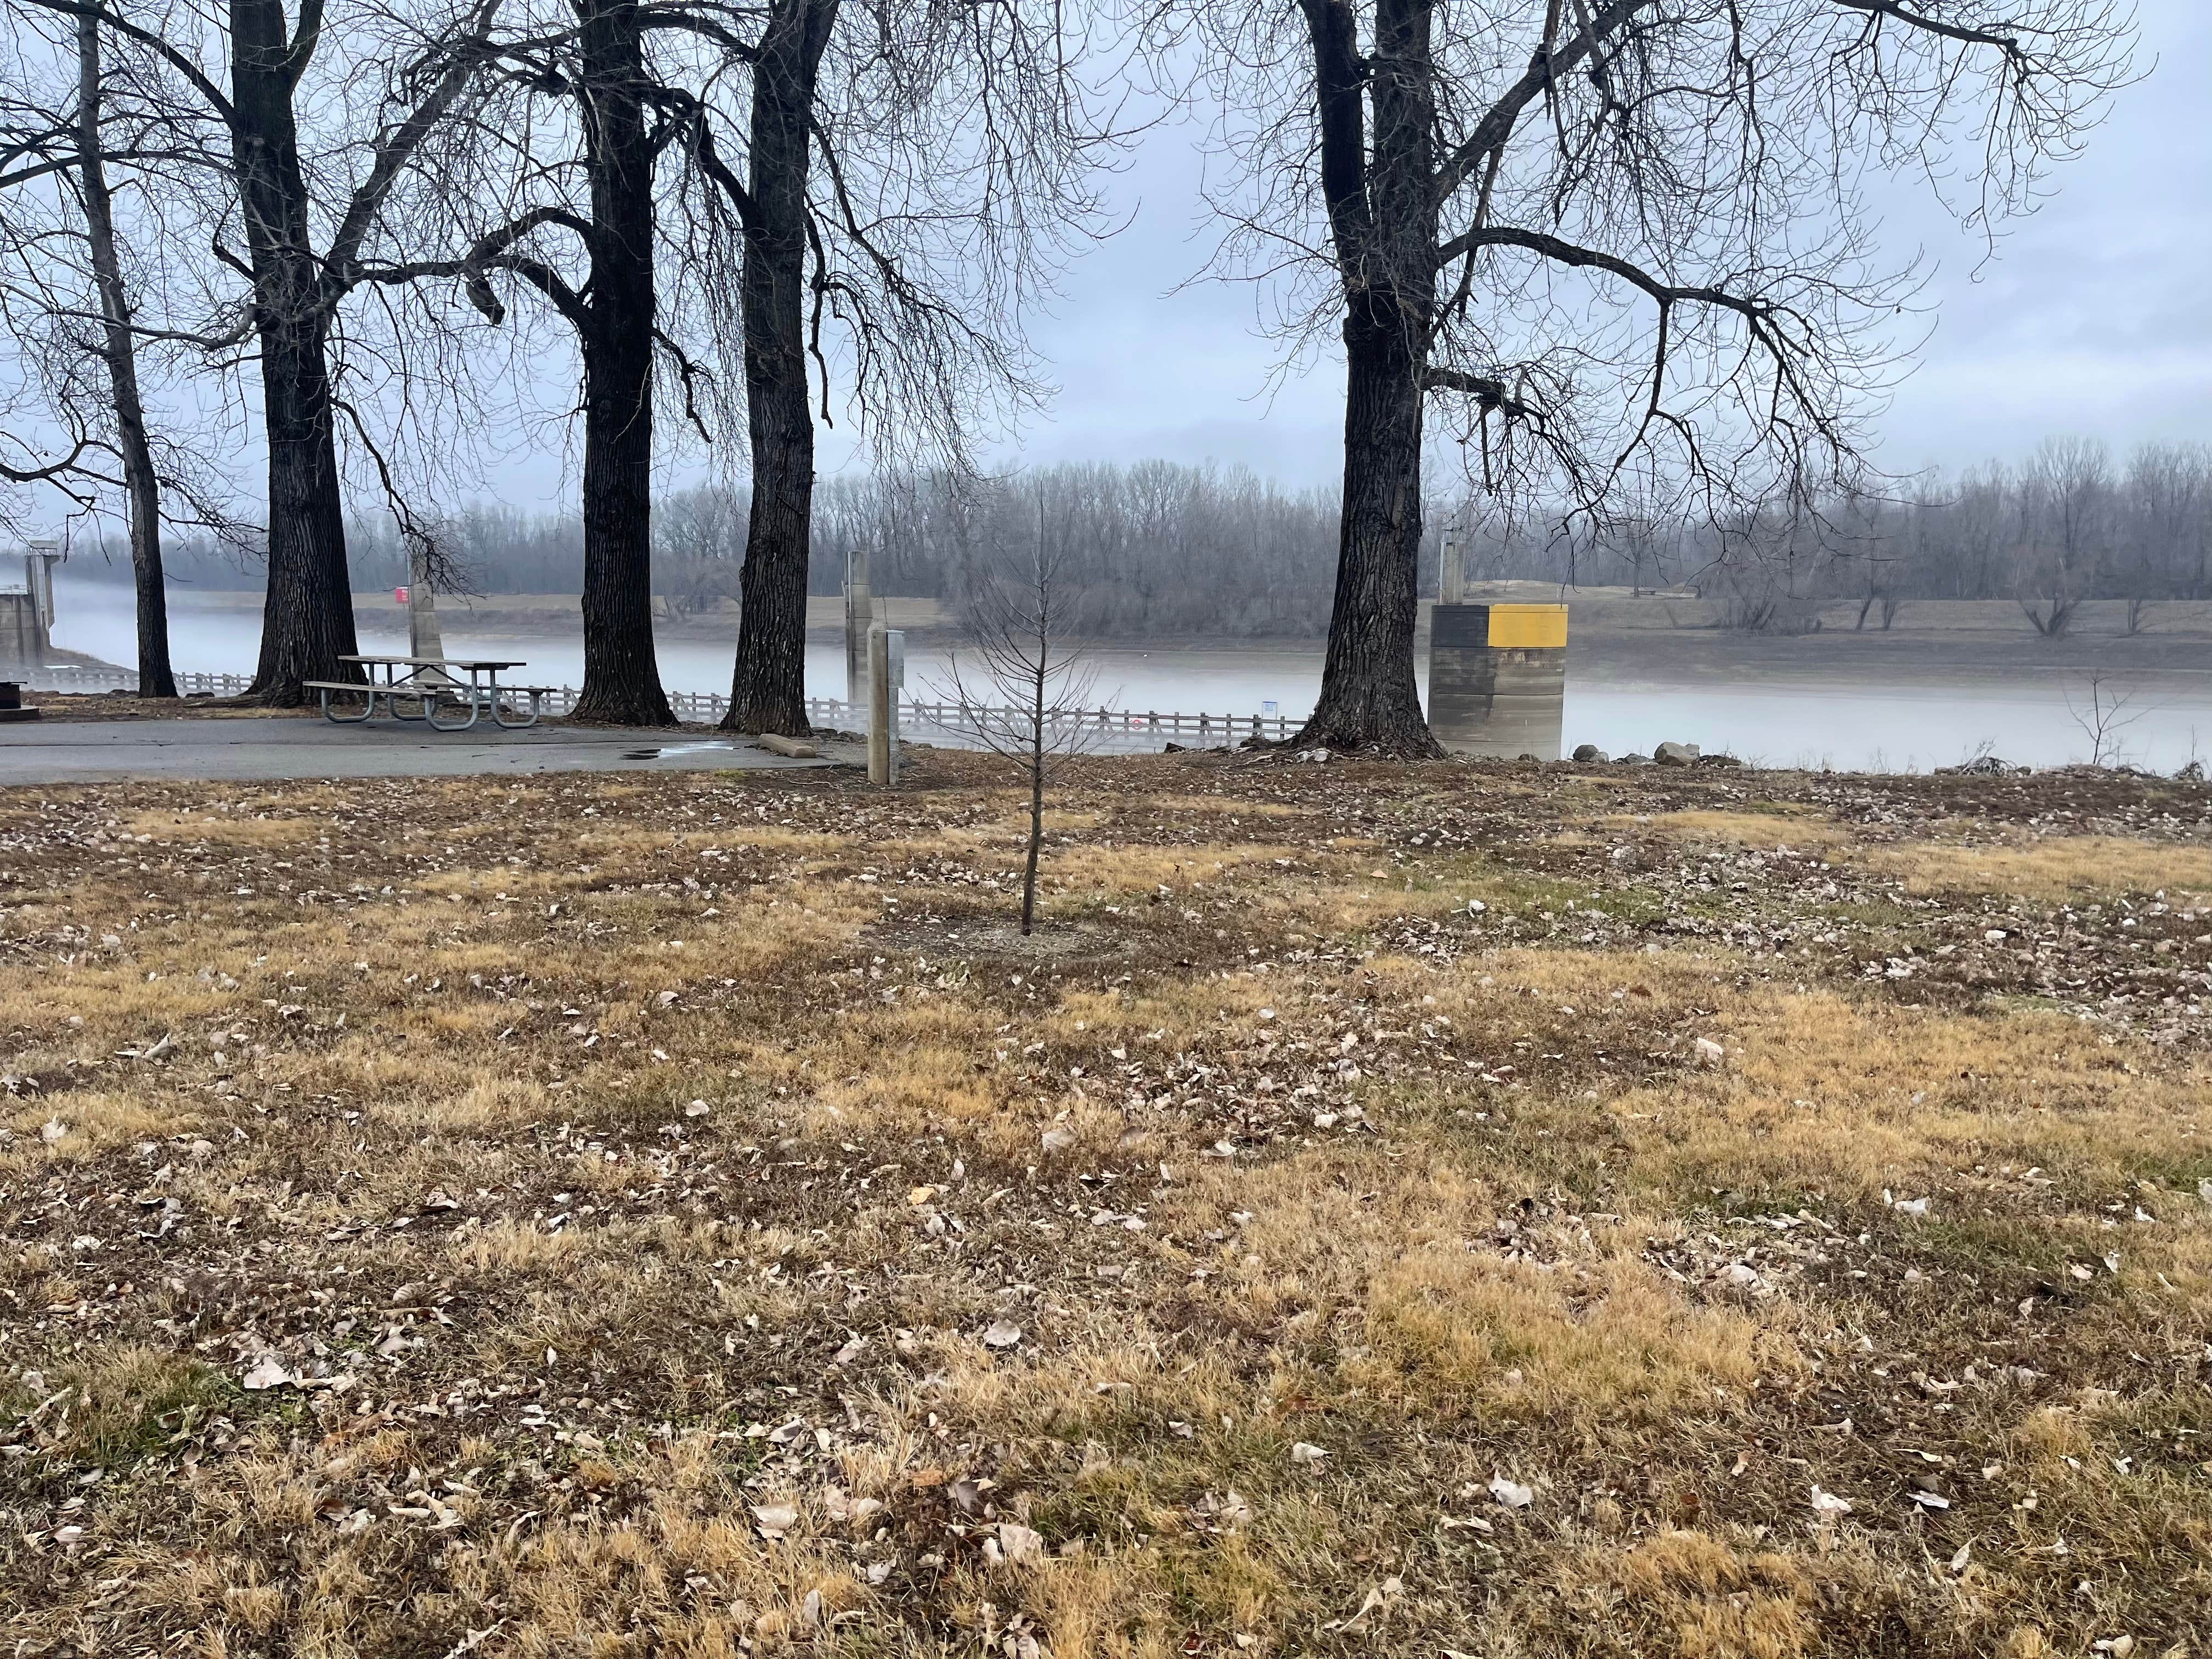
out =
[[(1321, 699), (1294, 743), (1442, 754), (1420, 712), (1420, 429), (1436, 319), (1433, 0), (1301, 0), (1314, 44), (1321, 179), (1345, 285), (1345, 509)], [(1367, 144), (1363, 95), (1374, 102)]]

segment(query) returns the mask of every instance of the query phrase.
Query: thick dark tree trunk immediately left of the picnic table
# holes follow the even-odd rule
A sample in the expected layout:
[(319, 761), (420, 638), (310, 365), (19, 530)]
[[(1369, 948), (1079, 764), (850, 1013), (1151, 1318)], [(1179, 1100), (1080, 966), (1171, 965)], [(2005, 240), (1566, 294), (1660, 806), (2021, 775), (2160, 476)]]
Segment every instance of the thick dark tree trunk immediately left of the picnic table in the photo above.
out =
[(254, 272), (261, 416), (270, 447), (268, 599), (252, 692), (296, 708), (307, 679), (356, 679), (345, 502), (325, 343), (330, 310), (310, 243), (292, 117), (283, 0), (230, 0), (230, 153)]

